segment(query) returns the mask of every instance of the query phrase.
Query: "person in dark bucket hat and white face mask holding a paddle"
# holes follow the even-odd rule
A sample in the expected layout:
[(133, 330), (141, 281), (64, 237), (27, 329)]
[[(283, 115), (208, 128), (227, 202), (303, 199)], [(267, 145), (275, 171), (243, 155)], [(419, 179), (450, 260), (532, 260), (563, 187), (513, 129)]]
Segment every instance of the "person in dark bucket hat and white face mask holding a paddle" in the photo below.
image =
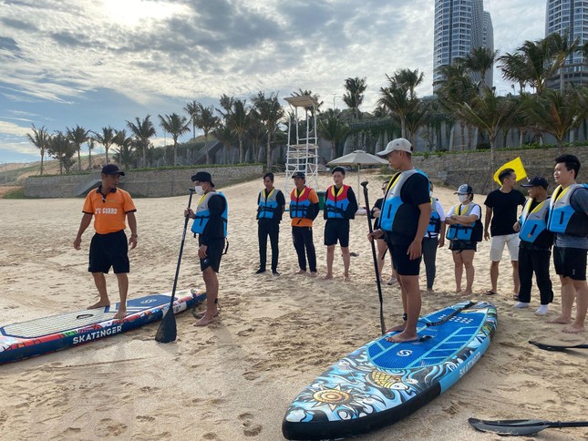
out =
[(198, 234), (198, 257), (206, 285), (206, 312), (195, 326), (206, 326), (219, 315), (219, 279), (222, 251), (227, 237), (228, 204), (224, 195), (214, 190), (211, 174), (199, 171), (191, 177), (195, 192), (201, 197), (196, 212), (184, 210), (193, 219), (191, 231)]

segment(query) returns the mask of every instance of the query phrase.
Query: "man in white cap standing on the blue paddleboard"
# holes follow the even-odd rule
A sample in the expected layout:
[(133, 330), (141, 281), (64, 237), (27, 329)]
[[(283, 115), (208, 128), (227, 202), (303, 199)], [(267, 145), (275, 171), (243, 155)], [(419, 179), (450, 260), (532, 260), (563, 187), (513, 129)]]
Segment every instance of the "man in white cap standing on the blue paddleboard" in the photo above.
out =
[(403, 323), (387, 330), (400, 331), (388, 340), (410, 342), (418, 339), (417, 322), (421, 306), (418, 273), (422, 241), (431, 215), (428, 176), (412, 165), (412, 145), (405, 138), (388, 142), (386, 149), (377, 152), (377, 155), (386, 156), (390, 167), (398, 172), (387, 185), (380, 228), (367, 237), (370, 241), (385, 237), (401, 287)]

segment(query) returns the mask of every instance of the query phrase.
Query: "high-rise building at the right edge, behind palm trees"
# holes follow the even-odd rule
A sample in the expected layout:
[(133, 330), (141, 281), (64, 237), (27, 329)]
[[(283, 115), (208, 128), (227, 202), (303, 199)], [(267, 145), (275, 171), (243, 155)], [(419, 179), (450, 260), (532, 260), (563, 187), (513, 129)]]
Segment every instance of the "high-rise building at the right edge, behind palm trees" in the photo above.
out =
[[(586, 0), (547, 0), (545, 13), (545, 36), (557, 33), (568, 35), (569, 41), (576, 38), (583, 45), (588, 41), (588, 1)], [(563, 69), (565, 83), (588, 83), (588, 60), (581, 52), (574, 52), (566, 58)], [(559, 88), (559, 74), (548, 82), (548, 87)]]

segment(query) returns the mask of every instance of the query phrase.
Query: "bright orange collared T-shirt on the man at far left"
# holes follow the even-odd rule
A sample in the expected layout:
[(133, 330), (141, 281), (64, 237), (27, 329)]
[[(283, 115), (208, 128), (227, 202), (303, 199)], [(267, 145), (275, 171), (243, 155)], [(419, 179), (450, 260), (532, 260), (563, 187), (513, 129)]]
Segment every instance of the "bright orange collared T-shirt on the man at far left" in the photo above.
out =
[(94, 230), (98, 234), (124, 230), (127, 213), (137, 211), (129, 192), (113, 189), (105, 197), (100, 190), (98, 187), (88, 193), (82, 211), (94, 216)]

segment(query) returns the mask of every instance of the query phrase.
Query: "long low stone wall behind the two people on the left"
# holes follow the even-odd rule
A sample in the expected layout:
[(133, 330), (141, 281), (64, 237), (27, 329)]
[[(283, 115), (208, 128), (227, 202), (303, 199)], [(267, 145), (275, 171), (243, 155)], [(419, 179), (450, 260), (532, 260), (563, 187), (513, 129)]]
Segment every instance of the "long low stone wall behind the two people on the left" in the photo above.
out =
[[(212, 167), (194, 169), (165, 169), (149, 171), (127, 171), (120, 179), (119, 187), (132, 196), (162, 198), (181, 196), (191, 188), (191, 176), (196, 171), (208, 171), (218, 189), (244, 180), (263, 176), (262, 165), (239, 167)], [(73, 198), (98, 187), (100, 173), (85, 175), (47, 176), (27, 178), (25, 196), (30, 198)]]

